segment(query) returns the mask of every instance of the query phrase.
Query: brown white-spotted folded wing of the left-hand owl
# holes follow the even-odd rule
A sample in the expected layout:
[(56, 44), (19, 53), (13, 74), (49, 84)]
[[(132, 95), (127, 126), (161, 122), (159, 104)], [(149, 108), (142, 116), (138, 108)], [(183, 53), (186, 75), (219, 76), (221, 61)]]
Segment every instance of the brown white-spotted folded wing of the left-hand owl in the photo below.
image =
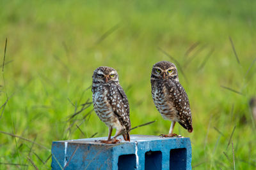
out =
[(121, 124), (124, 125), (125, 130), (131, 129), (131, 121), (130, 121), (130, 108), (127, 96), (125, 95), (124, 90), (120, 85), (116, 85), (116, 90), (113, 96), (115, 96), (115, 101), (109, 100), (111, 106), (113, 108), (113, 112), (120, 120)]

